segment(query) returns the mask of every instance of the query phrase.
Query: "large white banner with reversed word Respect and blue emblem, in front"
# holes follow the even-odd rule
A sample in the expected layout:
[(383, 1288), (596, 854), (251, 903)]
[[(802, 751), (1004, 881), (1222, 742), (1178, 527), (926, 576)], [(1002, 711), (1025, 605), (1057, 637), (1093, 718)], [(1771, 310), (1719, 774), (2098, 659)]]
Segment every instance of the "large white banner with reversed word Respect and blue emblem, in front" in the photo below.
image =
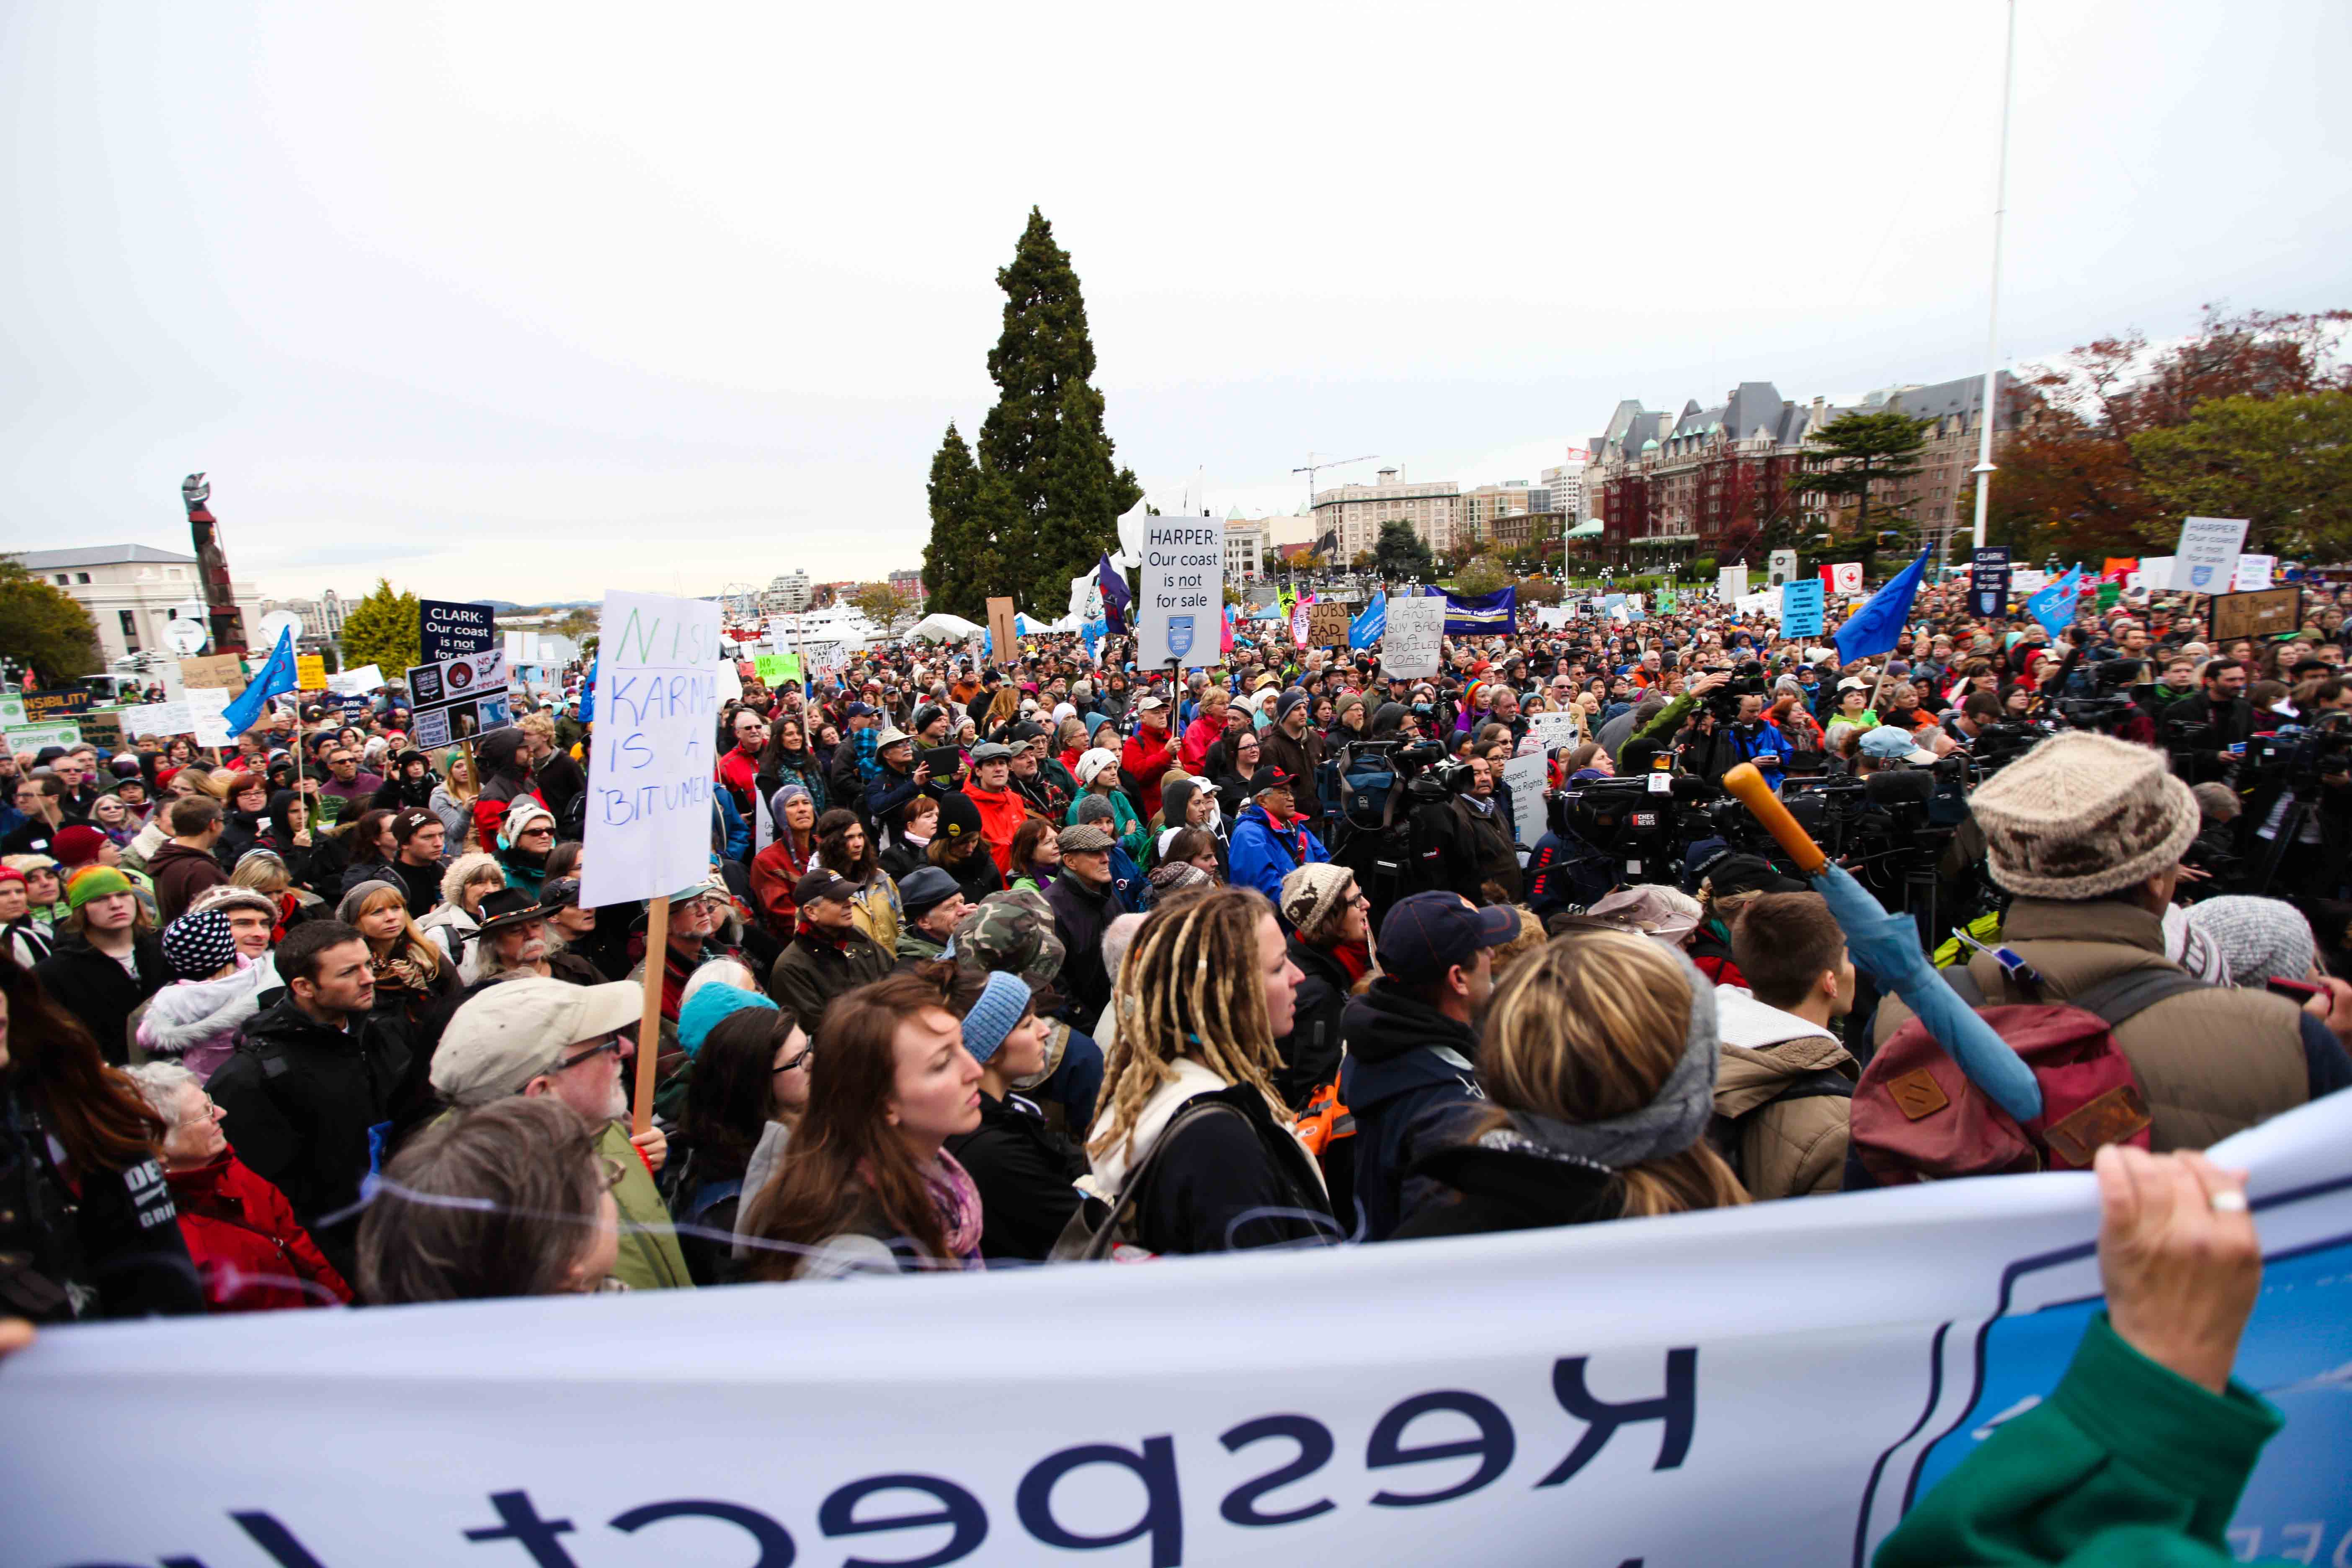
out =
[[(2352, 1547), (2352, 1095), (2216, 1152), (2286, 1413), (2239, 1556)], [(2093, 1178), (1338, 1255), (45, 1331), (0, 1563), (1860, 1563), (2056, 1385)], [(1077, 1554), (1077, 1556), (1070, 1556)]]

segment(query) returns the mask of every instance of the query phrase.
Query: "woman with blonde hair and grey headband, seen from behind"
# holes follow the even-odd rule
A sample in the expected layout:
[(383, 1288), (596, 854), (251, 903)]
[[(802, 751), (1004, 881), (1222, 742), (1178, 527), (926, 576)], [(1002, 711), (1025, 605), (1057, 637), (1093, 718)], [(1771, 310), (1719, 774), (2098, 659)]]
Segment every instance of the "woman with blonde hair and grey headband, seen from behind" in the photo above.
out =
[(1745, 1204), (1708, 1143), (1715, 987), (1646, 936), (1555, 938), (1494, 987), (1477, 1079), (1491, 1107), (1414, 1175), (1409, 1237), (1545, 1229)]

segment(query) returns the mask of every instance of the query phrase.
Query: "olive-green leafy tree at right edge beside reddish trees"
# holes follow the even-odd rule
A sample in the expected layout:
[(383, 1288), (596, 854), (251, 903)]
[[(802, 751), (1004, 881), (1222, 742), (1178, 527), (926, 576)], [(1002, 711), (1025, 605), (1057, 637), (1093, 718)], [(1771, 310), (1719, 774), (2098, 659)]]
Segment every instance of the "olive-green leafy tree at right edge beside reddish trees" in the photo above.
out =
[(2352, 545), (2352, 393), (2218, 397), (2133, 435), (2131, 456), (2164, 508), (2147, 543), (2171, 543), (2176, 517), (2246, 517), (2246, 548), (2265, 555)]

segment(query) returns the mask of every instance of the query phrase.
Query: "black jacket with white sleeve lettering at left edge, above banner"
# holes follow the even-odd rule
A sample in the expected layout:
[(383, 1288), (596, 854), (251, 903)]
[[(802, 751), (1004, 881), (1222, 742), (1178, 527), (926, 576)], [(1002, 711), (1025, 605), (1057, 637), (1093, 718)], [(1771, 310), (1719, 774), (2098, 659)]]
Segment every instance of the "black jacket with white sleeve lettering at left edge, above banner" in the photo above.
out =
[(49, 1159), (49, 1128), (0, 1072), (0, 1316), (71, 1324), (200, 1314), (205, 1291), (153, 1159), (82, 1171)]

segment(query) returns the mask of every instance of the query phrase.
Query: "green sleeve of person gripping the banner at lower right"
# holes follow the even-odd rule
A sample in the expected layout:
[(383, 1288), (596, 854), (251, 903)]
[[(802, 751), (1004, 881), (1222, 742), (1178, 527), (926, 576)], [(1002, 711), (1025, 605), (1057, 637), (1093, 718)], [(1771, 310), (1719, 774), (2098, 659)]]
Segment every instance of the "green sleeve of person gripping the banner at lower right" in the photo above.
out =
[(2124, 1345), (2100, 1312), (2058, 1389), (2004, 1422), (1872, 1559), (1877, 1568), (2220, 1568), (2223, 1530), (2284, 1418)]

